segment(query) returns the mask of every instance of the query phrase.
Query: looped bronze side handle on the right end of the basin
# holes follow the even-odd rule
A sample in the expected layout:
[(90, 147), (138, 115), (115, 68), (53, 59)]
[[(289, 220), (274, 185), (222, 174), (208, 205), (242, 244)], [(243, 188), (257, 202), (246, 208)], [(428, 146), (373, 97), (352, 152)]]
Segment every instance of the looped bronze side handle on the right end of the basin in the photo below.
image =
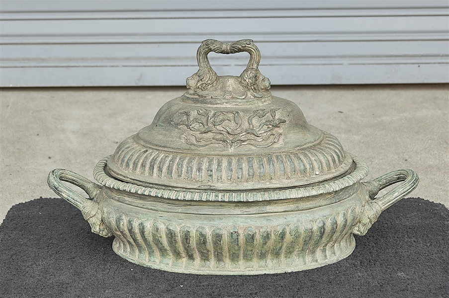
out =
[[(401, 181), (403, 182), (394, 189), (374, 199), (381, 189)], [(357, 235), (366, 234), (371, 225), (377, 221), (382, 211), (411, 193), (418, 186), (418, 183), (418, 175), (410, 169), (393, 171), (374, 180), (362, 182), (371, 200), (362, 207), (360, 221), (354, 227), (353, 233)]]

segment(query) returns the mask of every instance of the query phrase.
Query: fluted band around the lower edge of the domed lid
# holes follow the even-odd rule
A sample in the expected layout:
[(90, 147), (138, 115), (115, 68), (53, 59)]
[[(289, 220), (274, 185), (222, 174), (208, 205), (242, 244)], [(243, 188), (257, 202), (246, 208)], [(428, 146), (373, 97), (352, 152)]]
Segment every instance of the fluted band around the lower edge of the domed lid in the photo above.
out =
[[(123, 141), (108, 160), (108, 170), (120, 180), (141, 185), (216, 189), (289, 187), (339, 176), (352, 159), (337, 139), (323, 134), (319, 146), (258, 154), (204, 154), (140, 145), (135, 136)], [(317, 174), (318, 172), (318, 174)], [(242, 183), (243, 182), (243, 183)], [(268, 183), (268, 184), (267, 184)], [(212, 185), (211, 185), (212, 184)]]

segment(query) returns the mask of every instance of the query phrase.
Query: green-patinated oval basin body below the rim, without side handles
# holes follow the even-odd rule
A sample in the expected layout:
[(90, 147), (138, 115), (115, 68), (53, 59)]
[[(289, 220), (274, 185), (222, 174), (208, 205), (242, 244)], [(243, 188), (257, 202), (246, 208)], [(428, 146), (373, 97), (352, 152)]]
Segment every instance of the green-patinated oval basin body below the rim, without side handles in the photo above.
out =
[(260, 274), (310, 269), (351, 254), (351, 232), (366, 197), (355, 184), (313, 198), (335, 202), (332, 207), (303, 210), (298, 199), (173, 202), (107, 189), (98, 203), (115, 235), (114, 251), (133, 263), (196, 274)]

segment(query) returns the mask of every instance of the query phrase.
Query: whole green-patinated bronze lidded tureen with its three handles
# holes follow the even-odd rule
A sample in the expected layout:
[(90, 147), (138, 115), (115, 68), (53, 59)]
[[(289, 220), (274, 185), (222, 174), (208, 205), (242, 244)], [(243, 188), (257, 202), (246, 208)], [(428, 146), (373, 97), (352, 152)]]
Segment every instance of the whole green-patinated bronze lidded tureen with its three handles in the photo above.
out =
[[(248, 52), (250, 61), (240, 76), (218, 76), (210, 52)], [(359, 157), (271, 95), (252, 40), (205, 40), (197, 59), (188, 91), (94, 167), (99, 184), (64, 169), (49, 174), (92, 232), (115, 236), (121, 257), (194, 274), (311, 269), (349, 256), (353, 234), (418, 185), (409, 169), (360, 182), (368, 167)]]

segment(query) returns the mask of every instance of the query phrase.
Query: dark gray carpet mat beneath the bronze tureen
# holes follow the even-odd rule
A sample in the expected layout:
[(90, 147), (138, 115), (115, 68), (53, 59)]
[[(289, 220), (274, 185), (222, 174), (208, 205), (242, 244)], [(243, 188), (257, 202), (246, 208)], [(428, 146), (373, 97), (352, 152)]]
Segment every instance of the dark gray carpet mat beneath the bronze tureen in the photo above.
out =
[(403, 199), (348, 258), (261, 276), (199, 276), (134, 265), (62, 199), (15, 205), (0, 225), (1, 297), (449, 297), (449, 210)]

